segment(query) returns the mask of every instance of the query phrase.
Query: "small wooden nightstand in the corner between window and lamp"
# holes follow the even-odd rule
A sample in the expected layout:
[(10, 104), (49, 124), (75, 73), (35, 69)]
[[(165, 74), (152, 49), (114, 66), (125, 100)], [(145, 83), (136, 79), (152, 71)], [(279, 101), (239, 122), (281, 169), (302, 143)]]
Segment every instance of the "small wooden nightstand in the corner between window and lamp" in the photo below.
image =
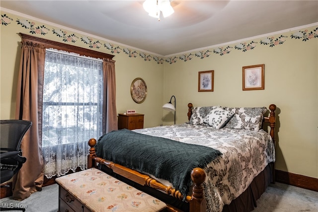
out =
[(118, 114), (118, 130), (136, 130), (144, 128), (144, 114)]

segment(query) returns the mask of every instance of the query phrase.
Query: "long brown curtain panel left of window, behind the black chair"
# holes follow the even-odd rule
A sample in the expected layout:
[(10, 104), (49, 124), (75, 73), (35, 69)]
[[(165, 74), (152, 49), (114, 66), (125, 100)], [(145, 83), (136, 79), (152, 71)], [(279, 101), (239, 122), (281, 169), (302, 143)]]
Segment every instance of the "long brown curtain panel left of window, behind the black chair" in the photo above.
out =
[(21, 142), (26, 162), (13, 178), (14, 200), (24, 200), (42, 190), (44, 174), (41, 129), (45, 51), (42, 45), (22, 40), (15, 118), (29, 120), (32, 126)]

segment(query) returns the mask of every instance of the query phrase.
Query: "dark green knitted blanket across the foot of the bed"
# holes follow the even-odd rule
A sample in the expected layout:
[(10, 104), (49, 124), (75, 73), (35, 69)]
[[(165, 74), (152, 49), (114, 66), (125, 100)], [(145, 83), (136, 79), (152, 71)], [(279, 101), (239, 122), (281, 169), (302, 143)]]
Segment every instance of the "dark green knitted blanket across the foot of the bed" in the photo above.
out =
[(95, 148), (98, 157), (168, 180), (184, 197), (191, 185), (190, 173), (193, 168), (204, 168), (222, 154), (210, 147), (126, 129), (101, 136)]

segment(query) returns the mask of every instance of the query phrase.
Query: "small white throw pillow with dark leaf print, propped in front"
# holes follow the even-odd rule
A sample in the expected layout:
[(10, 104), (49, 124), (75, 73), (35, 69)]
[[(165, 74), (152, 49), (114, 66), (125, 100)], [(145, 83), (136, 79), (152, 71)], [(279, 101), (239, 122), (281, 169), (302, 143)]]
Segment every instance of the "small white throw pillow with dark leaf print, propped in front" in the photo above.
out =
[(221, 129), (234, 114), (234, 111), (216, 108), (211, 110), (211, 112), (204, 118), (203, 122), (215, 129)]

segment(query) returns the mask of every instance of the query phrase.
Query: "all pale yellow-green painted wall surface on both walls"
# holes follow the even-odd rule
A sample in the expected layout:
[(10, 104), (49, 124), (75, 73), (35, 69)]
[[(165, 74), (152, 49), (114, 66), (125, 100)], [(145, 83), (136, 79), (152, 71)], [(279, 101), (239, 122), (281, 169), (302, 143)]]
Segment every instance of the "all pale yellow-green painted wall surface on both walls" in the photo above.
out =
[[(21, 40), (17, 33), (29, 33), (29, 29), (15, 23), (21, 17), (6, 14), (12, 21), (0, 28), (0, 119), (14, 118)], [(63, 42), (52, 33), (52, 28), (59, 26), (39, 21), (35, 24), (50, 28), (47, 35), (35, 36)], [(66, 30), (79, 38), (87, 36), (106, 42), (93, 35)], [(273, 103), (278, 107), (279, 127), (276, 169), (318, 178), (318, 38), (304, 42), (290, 38), (291, 32), (283, 34), (288, 37), (282, 45), (261, 45), (259, 41), (263, 38), (258, 38), (253, 40), (258, 42), (253, 50), (242, 52), (233, 48), (230, 54), (223, 56), (210, 52), (205, 59), (192, 56), (190, 61), (176, 60), (172, 64), (145, 61), (140, 56), (129, 57), (123, 51), (114, 53), (117, 112), (135, 109), (145, 114), (145, 127), (154, 127), (173, 123), (173, 113), (161, 109), (171, 95), (176, 97), (177, 124), (187, 121), (189, 102), (194, 106), (237, 107)], [(88, 48), (79, 41), (74, 45)], [(112, 54), (104, 47), (94, 50)], [(256, 64), (265, 64), (265, 90), (242, 91), (242, 67)], [(208, 70), (215, 71), (214, 92), (198, 92), (198, 71)], [(142, 77), (147, 83), (148, 95), (142, 104), (135, 103), (130, 96), (130, 84), (136, 77)]]

